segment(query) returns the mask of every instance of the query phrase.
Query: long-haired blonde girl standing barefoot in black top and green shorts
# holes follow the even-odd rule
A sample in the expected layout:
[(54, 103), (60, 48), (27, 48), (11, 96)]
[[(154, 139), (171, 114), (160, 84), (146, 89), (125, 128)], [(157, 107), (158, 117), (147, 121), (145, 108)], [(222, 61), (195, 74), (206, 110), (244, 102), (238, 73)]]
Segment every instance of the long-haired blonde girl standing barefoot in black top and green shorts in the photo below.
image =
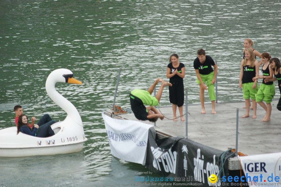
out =
[(245, 99), (246, 114), (242, 118), (249, 117), (250, 98), (253, 101), (254, 114), (252, 118), (257, 118), (257, 103), (255, 94), (258, 92), (259, 62), (254, 58), (254, 52), (251, 48), (246, 48), (245, 59), (241, 62), (239, 88), (243, 88), (243, 97)]

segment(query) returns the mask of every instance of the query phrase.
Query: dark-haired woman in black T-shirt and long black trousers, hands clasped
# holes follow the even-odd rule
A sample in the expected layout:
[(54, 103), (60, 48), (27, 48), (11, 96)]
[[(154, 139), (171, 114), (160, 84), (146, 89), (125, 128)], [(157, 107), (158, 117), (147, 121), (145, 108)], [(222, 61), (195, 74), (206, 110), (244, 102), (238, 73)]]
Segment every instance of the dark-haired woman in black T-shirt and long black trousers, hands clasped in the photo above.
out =
[(179, 56), (177, 54), (172, 54), (169, 62), (166, 76), (167, 78), (170, 78), (169, 82), (173, 85), (169, 87), (169, 99), (170, 103), (172, 103), (174, 121), (177, 121), (177, 106), (179, 107), (180, 120), (185, 121), (183, 117), (185, 97), (183, 78), (185, 77), (185, 65), (179, 62)]

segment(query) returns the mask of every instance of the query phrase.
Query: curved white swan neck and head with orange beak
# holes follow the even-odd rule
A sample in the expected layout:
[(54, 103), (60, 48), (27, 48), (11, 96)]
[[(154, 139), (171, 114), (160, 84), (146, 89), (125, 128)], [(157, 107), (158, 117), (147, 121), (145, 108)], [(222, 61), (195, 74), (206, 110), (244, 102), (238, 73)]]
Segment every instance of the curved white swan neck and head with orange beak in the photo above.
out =
[(50, 73), (46, 80), (46, 91), (49, 97), (67, 113), (67, 117), (64, 120), (65, 123), (76, 123), (77, 125), (82, 125), (81, 117), (76, 109), (76, 107), (59, 94), (55, 85), (57, 82), (63, 83), (72, 83), (72, 84), (82, 84), (80, 81), (77, 81), (73, 78), (73, 73), (68, 69), (56, 69)]

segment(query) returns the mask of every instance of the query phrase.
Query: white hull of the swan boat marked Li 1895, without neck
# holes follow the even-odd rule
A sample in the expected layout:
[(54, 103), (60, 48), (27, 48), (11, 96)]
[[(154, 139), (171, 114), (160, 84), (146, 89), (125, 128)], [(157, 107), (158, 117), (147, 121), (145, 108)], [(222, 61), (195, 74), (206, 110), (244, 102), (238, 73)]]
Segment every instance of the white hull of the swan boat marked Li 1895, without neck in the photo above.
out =
[(51, 127), (56, 133), (47, 138), (17, 134), (17, 127), (0, 130), (0, 157), (22, 157), (56, 155), (79, 152), (87, 140), (83, 127), (76, 124), (57, 122)]

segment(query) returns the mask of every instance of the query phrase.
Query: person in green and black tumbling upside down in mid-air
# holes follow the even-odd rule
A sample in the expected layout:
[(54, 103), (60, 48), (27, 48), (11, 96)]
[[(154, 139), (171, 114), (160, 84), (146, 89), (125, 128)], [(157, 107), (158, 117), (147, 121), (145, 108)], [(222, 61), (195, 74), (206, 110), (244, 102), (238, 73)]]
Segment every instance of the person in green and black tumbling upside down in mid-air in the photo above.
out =
[[(162, 83), (156, 96), (151, 96), (155, 86), (159, 82)], [(149, 120), (151, 122), (155, 122), (158, 120), (158, 118), (161, 120), (164, 119), (164, 116), (160, 114), (160, 112), (154, 106), (159, 104), (165, 86), (172, 86), (172, 84), (157, 78), (147, 91), (139, 89), (131, 91), (131, 109), (138, 120)], [(149, 106), (145, 107), (145, 105)]]

